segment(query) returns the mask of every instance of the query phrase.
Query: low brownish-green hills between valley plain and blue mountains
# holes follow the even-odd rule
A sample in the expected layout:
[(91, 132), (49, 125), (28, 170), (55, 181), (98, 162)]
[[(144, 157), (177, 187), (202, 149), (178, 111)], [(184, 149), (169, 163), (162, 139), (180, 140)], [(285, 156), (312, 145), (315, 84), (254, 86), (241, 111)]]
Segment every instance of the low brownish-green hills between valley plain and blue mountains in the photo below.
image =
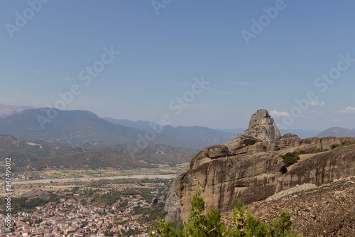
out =
[[(190, 162), (196, 149), (150, 144), (133, 152), (124, 144), (94, 146), (53, 146), (10, 135), (0, 135), (0, 162), (11, 157), (13, 169), (89, 168), (113, 167), (133, 169), (155, 164)], [(132, 155), (133, 154), (133, 155)]]

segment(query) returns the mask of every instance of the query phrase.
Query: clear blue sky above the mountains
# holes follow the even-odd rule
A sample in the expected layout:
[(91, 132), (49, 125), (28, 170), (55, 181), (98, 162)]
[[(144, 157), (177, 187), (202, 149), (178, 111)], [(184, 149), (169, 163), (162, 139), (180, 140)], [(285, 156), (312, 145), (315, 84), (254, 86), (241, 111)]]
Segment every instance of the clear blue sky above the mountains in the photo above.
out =
[[(354, 7), (324, 0), (1, 1), (0, 102), (55, 106), (58, 93), (77, 85), (65, 109), (100, 117), (157, 122), (167, 114), (171, 125), (231, 128), (247, 127), (265, 108), (278, 127), (353, 129)], [(102, 65), (104, 48), (120, 53), (85, 85), (80, 72)], [(329, 73), (336, 79), (317, 79)], [(191, 98), (194, 78), (202, 77), (209, 84)], [(307, 100), (310, 92), (317, 100)], [(182, 106), (176, 98), (184, 95)]]

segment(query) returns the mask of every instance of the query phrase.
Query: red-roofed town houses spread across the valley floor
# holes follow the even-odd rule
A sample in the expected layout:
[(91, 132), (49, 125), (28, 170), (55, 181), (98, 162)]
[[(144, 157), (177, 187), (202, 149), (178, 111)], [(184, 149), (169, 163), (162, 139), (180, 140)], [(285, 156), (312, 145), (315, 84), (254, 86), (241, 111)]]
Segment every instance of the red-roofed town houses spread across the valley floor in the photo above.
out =
[[(135, 206), (150, 206), (143, 199), (132, 196), (129, 206), (119, 211), (107, 205), (83, 205), (74, 198), (60, 199), (59, 203), (49, 202), (45, 206), (37, 206), (33, 213), (19, 212), (11, 216), (13, 232), (0, 222), (0, 236), (148, 236), (150, 229), (144, 224), (137, 223), (131, 216)], [(0, 220), (6, 216), (0, 214)], [(133, 234), (129, 234), (133, 233)]]

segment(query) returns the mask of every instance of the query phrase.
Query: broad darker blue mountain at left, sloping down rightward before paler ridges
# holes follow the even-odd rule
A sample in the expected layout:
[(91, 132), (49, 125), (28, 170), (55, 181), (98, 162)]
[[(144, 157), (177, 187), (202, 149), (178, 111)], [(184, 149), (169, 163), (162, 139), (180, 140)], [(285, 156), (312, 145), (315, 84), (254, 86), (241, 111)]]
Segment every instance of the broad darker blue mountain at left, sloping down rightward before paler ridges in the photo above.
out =
[[(17, 115), (0, 119), (0, 133), (18, 139), (64, 144), (131, 144), (143, 147), (148, 143), (168, 144), (174, 147), (201, 149), (203, 144), (187, 142), (166, 135), (155, 134), (155, 139), (146, 139), (143, 130), (114, 125), (92, 112), (82, 110), (58, 110), (58, 116), (48, 119), (48, 108), (24, 110)], [(38, 118), (44, 120), (44, 129)], [(138, 141), (138, 144), (137, 144)]]

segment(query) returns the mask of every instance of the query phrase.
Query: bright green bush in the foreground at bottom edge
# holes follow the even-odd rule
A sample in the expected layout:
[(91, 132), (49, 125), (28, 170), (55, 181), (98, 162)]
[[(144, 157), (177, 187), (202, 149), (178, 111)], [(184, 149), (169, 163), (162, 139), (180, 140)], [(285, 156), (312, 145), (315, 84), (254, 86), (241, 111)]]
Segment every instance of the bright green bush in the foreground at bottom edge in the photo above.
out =
[[(191, 201), (190, 219), (180, 228), (173, 228), (173, 224), (159, 219), (155, 223), (155, 233), (162, 237), (301, 237), (290, 232), (292, 221), (287, 212), (283, 212), (278, 220), (272, 225), (263, 223), (258, 218), (253, 217), (251, 211), (247, 214), (246, 208), (241, 201), (233, 211), (234, 228), (227, 229), (221, 221), (221, 213), (212, 206), (212, 209), (204, 214), (204, 200), (201, 190), (197, 189)], [(153, 237), (153, 233), (149, 233)]]

